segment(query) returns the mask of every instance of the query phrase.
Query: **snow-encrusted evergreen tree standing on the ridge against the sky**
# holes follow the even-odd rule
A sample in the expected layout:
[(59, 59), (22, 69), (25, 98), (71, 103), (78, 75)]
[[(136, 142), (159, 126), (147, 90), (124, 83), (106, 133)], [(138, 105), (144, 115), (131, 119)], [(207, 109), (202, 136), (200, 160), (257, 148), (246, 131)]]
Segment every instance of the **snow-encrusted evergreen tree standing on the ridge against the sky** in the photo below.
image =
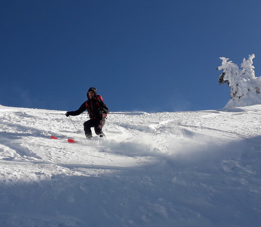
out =
[(251, 106), (261, 103), (261, 78), (255, 76), (253, 58), (254, 54), (249, 55), (248, 60), (244, 58), (241, 69), (238, 65), (228, 62), (229, 58), (222, 59), (222, 65), (217, 69), (222, 70), (223, 73), (220, 75), (219, 82), (227, 83), (230, 90), (231, 99), (225, 106), (228, 107), (240, 107), (240, 106)]

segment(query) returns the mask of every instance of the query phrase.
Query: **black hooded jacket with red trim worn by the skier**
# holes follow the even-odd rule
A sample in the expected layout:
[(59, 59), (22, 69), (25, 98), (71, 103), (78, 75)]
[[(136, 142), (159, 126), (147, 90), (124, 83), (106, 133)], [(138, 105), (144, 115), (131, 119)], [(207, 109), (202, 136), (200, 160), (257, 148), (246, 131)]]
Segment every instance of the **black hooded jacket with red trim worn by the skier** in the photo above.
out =
[[(94, 91), (95, 92), (95, 96), (90, 99), (88, 93), (89, 91)], [(72, 115), (72, 116), (76, 116), (81, 114), (84, 111), (88, 111), (89, 113), (89, 118), (101, 118), (100, 112), (98, 111), (98, 109), (100, 108), (104, 108), (105, 109), (105, 113), (104, 114), (108, 114), (109, 109), (108, 107), (104, 104), (103, 100), (102, 100), (102, 96), (97, 95), (96, 94), (97, 90), (96, 88), (90, 88), (87, 92), (87, 100), (82, 103), (82, 105), (80, 106), (80, 108), (76, 111), (69, 111), (68, 114)]]

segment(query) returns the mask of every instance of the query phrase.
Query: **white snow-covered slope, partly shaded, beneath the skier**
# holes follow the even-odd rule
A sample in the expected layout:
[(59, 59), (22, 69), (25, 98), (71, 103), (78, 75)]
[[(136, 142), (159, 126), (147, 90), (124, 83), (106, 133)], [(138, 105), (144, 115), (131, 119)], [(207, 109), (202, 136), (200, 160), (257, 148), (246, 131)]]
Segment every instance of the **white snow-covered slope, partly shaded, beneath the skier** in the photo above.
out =
[(64, 113), (0, 106), (0, 226), (261, 226), (261, 105)]

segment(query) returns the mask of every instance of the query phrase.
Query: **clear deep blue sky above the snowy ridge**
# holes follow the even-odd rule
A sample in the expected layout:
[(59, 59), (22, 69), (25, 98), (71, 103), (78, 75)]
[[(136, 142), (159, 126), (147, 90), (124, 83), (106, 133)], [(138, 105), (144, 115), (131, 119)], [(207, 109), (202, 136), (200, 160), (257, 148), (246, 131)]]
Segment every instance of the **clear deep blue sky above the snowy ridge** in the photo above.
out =
[(110, 111), (220, 109), (220, 57), (255, 54), (260, 1), (1, 1), (0, 105), (73, 111), (96, 87)]

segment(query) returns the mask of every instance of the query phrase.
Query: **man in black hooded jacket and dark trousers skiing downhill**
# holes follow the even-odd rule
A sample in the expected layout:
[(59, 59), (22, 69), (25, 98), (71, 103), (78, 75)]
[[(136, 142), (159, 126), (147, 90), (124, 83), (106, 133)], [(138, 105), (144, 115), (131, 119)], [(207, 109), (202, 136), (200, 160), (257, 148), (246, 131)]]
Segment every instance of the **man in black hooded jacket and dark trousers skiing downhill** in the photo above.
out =
[(102, 127), (105, 124), (105, 118), (109, 112), (108, 107), (104, 104), (102, 96), (97, 95), (96, 88), (89, 88), (87, 92), (87, 100), (82, 103), (80, 108), (76, 111), (69, 111), (66, 112), (65, 115), (68, 117), (76, 116), (81, 114), (84, 111), (88, 111), (90, 120), (85, 121), (84, 126), (84, 133), (87, 139), (92, 139), (92, 131), (91, 127), (94, 127), (94, 131), (96, 135), (105, 136), (102, 132)]

